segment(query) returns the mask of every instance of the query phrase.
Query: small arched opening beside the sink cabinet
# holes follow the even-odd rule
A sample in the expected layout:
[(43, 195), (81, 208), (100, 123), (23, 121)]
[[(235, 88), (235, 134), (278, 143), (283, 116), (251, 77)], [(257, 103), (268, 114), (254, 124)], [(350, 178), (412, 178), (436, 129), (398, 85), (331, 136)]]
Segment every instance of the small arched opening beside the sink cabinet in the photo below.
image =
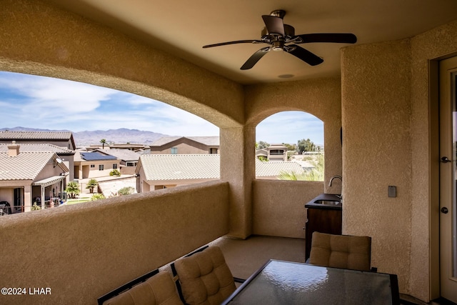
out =
[(256, 179), (323, 181), (323, 121), (283, 111), (256, 126)]

